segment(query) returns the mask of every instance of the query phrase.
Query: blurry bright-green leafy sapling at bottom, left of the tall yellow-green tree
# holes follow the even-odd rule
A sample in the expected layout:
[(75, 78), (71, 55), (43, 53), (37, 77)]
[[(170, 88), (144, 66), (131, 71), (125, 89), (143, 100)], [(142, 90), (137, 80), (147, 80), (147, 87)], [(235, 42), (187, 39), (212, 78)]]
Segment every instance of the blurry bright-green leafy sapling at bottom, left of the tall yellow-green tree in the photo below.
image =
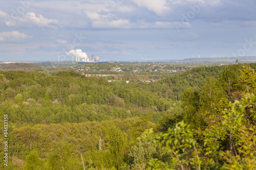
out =
[[(179, 122), (173, 128), (169, 128), (167, 133), (155, 134), (153, 129), (146, 130), (140, 139), (149, 140), (155, 144), (160, 144), (162, 149), (172, 153), (174, 156), (172, 161), (166, 161), (165, 163), (159, 161), (157, 158), (152, 159), (151, 165), (161, 165), (161, 168), (175, 169), (178, 165), (181, 169), (184, 168), (184, 164), (190, 164), (194, 168), (201, 169), (201, 158), (197, 149), (198, 143), (193, 137), (193, 133), (189, 129), (189, 125), (184, 122)], [(180, 154), (184, 153), (185, 150), (193, 150), (194, 157), (188, 160), (181, 160)]]

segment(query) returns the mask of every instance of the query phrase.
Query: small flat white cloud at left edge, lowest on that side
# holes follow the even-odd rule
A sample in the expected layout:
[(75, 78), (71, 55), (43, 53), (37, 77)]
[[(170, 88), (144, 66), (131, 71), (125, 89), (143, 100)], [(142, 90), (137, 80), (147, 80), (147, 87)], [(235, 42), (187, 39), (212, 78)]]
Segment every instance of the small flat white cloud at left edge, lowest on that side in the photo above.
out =
[(32, 38), (32, 36), (19, 33), (18, 31), (0, 33), (0, 41), (23, 42), (28, 38)]

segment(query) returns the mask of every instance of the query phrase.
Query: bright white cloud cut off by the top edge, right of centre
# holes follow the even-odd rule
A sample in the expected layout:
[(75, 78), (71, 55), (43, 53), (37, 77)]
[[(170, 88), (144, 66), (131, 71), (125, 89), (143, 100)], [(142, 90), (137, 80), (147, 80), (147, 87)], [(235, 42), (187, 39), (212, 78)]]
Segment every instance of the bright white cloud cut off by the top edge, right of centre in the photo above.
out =
[(148, 0), (131, 0), (135, 4), (138, 5), (138, 7), (147, 8), (150, 11), (155, 12), (159, 16), (167, 16), (170, 12), (170, 8), (167, 7), (165, 0), (154, 0), (154, 1), (148, 1)]

